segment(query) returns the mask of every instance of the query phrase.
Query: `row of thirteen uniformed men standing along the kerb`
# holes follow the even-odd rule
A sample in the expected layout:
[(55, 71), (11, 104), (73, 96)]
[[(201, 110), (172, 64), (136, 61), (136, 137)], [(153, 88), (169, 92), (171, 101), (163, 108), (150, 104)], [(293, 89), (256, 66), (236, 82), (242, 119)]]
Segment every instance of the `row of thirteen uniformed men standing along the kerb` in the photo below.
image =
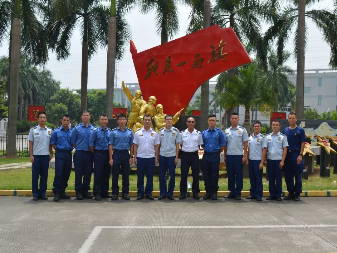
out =
[[(195, 119), (189, 117), (187, 129), (179, 131), (172, 126), (173, 115), (165, 116), (165, 127), (157, 133), (151, 128), (152, 117), (147, 114), (143, 118), (143, 127), (133, 134), (126, 127), (125, 114), (117, 116), (118, 127), (110, 130), (106, 127), (108, 116), (99, 116), (99, 126), (89, 123), (90, 113), (84, 110), (82, 123), (73, 129), (69, 128), (70, 116), (63, 115), (62, 126), (54, 131), (45, 125), (47, 114), (39, 112), (38, 126), (33, 127), (28, 136), (30, 159), (32, 162), (33, 200), (48, 199), (47, 178), (52, 148), (55, 155), (55, 177), (53, 182), (54, 201), (70, 199), (65, 193), (71, 171), (72, 150), (75, 167), (76, 199), (92, 198), (101, 200), (109, 198), (109, 178), (112, 172), (112, 200), (119, 195), (118, 177), (122, 172), (122, 198), (129, 197), (129, 170), (132, 162), (137, 166), (137, 199), (146, 197), (154, 199), (153, 173), (154, 166), (159, 163), (158, 199), (173, 200), (175, 188), (175, 171), (178, 157), (181, 158), (180, 197), (187, 197), (187, 176), (192, 171), (192, 193), (194, 199), (200, 199), (199, 188), (199, 156), (200, 146), (204, 148), (202, 170), (205, 182), (203, 199), (217, 199), (219, 188), (220, 154), (224, 151), (224, 162), (228, 176), (229, 194), (225, 198), (241, 199), (243, 188), (243, 164), (248, 165), (250, 179), (250, 196), (247, 199), (262, 201), (262, 173), (264, 165), (269, 173), (269, 192), (267, 200), (281, 201), (282, 172), (284, 172), (288, 196), (284, 199), (300, 200), (302, 192), (301, 171), (302, 156), (305, 145), (304, 129), (296, 125), (297, 116), (290, 113), (289, 127), (280, 133), (280, 122), (272, 122), (272, 133), (261, 134), (261, 122), (254, 122), (254, 133), (248, 136), (245, 128), (239, 126), (237, 113), (231, 115), (232, 126), (223, 132), (215, 127), (216, 116), (209, 115), (209, 127), (203, 132), (194, 129)], [(181, 147), (181, 154), (179, 150)], [(90, 190), (91, 174), (94, 172), (93, 196)], [(146, 186), (144, 188), (144, 176)], [(170, 177), (168, 187), (167, 178)], [(295, 185), (294, 185), (295, 177)], [(39, 187), (38, 180), (40, 178)]]

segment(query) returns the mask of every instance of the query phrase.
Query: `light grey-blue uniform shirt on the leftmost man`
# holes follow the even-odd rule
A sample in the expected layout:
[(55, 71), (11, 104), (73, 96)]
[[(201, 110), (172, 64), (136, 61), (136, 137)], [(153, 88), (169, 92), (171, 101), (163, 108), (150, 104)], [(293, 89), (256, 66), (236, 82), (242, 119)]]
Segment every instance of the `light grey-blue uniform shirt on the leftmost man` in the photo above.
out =
[(53, 129), (45, 126), (33, 127), (29, 130), (28, 140), (33, 142), (33, 155), (43, 156), (49, 155), (49, 145), (52, 140)]

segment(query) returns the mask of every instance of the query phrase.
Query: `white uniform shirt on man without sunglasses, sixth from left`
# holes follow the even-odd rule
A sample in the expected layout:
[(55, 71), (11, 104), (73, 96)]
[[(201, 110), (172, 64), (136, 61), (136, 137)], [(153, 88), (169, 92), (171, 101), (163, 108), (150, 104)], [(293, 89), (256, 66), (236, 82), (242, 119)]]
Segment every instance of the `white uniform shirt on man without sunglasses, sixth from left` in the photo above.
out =
[(156, 131), (150, 128), (146, 131), (144, 127), (134, 133), (133, 143), (138, 145), (136, 157), (155, 157), (154, 145), (158, 145), (159, 137)]

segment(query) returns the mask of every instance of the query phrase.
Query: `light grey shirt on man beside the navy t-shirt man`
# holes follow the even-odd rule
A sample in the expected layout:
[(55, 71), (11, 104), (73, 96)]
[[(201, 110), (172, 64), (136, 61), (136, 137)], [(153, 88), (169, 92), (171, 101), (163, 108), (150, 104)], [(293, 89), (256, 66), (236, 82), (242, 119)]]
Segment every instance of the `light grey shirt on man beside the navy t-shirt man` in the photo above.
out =
[(285, 134), (278, 132), (277, 134), (269, 133), (267, 137), (267, 159), (282, 160), (283, 148), (288, 147), (288, 140)]

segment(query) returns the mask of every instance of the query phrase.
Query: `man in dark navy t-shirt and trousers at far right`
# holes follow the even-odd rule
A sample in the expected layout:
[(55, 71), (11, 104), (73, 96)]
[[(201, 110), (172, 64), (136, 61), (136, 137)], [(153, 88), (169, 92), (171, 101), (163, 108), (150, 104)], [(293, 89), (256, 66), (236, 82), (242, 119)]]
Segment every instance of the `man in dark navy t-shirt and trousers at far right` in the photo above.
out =
[(288, 123), (290, 126), (283, 130), (283, 133), (287, 136), (289, 144), (284, 163), (284, 179), (289, 193), (288, 196), (283, 199), (295, 199), (295, 201), (300, 201), (300, 194), (302, 193), (301, 173), (303, 169), (301, 163), (306, 137), (304, 129), (297, 126), (296, 121), (296, 113), (289, 113)]

